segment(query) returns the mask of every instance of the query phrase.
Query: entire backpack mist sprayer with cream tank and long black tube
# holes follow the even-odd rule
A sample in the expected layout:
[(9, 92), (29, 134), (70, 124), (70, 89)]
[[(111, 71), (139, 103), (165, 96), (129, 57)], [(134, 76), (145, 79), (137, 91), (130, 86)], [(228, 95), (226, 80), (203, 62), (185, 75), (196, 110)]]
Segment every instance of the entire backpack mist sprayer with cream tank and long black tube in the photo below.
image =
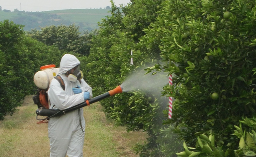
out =
[[(56, 74), (59, 71), (59, 68), (55, 68), (55, 65), (45, 65), (40, 67), (41, 71), (38, 71), (34, 75), (34, 83), (38, 87), (36, 95), (33, 96), (34, 104), (38, 106), (38, 109), (36, 110), (36, 119), (40, 120), (40, 123), (47, 123), (44, 122), (44, 120), (47, 120), (51, 117), (61, 116), (68, 112), (77, 110), (79, 108), (82, 108), (84, 106), (89, 106), (90, 104), (94, 102), (98, 102), (104, 98), (108, 98), (109, 96), (113, 96), (118, 93), (122, 93), (122, 87), (117, 86), (115, 89), (110, 90), (104, 94), (101, 94), (99, 96), (96, 96), (94, 98), (91, 98), (90, 100), (86, 100), (85, 102), (82, 102), (81, 104), (78, 104), (76, 106), (73, 106), (71, 108), (65, 109), (65, 110), (54, 110), (49, 109), (50, 106), (48, 104), (48, 96), (47, 96), (47, 90), (50, 85), (51, 80), (56, 77)], [(63, 88), (63, 87), (62, 87)], [(47, 118), (44, 119), (38, 119), (38, 116), (47, 116)]]

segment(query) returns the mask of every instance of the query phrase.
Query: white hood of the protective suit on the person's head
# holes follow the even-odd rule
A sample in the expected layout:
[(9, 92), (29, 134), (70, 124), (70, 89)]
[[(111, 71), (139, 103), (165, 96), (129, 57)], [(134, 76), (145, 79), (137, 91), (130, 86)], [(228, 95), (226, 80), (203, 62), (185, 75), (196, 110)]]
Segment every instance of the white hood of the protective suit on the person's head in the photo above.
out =
[(66, 73), (77, 65), (80, 65), (80, 61), (74, 55), (65, 54), (60, 61), (60, 70), (58, 75)]

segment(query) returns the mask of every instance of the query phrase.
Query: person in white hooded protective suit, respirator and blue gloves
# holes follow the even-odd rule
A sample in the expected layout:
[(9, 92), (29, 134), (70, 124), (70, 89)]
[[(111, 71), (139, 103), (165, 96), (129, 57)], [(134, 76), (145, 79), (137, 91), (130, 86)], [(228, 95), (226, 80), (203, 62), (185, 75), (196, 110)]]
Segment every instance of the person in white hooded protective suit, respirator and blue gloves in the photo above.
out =
[[(48, 89), (50, 109), (64, 110), (92, 98), (92, 88), (81, 78), (80, 61), (65, 54), (60, 61), (58, 75), (64, 82), (64, 90), (56, 78)], [(85, 120), (83, 109), (52, 117), (48, 123), (50, 157), (82, 157)]]

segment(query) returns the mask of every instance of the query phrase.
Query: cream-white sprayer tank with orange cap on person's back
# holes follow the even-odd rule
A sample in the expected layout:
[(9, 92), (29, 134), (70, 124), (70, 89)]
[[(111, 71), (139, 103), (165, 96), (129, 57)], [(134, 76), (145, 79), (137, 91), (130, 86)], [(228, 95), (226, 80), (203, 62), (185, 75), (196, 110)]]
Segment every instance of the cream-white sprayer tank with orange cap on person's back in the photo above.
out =
[(34, 83), (40, 89), (47, 89), (50, 81), (58, 74), (59, 68), (55, 68), (55, 65), (52, 64), (44, 65), (40, 67), (40, 70), (34, 75)]

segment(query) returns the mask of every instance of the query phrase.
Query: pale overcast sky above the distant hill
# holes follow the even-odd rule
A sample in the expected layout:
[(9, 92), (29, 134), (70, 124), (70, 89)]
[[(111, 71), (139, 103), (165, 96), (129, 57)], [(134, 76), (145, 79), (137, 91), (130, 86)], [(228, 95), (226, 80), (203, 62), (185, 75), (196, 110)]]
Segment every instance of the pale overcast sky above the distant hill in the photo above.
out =
[[(126, 5), (130, 0), (113, 0), (116, 6)], [(25, 12), (42, 12), (63, 9), (106, 8), (110, 0), (0, 0), (2, 10), (18, 9)]]

